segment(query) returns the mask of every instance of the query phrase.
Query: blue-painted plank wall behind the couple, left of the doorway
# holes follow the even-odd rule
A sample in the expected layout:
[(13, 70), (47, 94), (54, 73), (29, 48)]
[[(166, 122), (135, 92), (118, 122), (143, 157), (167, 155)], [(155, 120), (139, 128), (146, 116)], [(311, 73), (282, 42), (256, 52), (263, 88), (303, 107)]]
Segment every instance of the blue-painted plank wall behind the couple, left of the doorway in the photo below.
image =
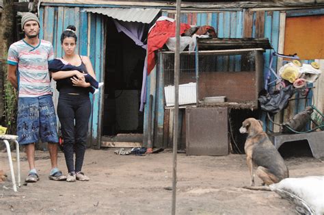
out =
[[(49, 40), (53, 43), (54, 54), (57, 58), (61, 58), (61, 34), (68, 25), (75, 25), (77, 28), (77, 52), (80, 55), (89, 56), (96, 79), (103, 81), (104, 79), (104, 21), (103, 16), (97, 14), (88, 14), (81, 12), (80, 7), (67, 6), (49, 6), (46, 5), (40, 8), (40, 38)], [(54, 90), (53, 100), (57, 102), (57, 90)], [(103, 91), (96, 94), (95, 97), (90, 95), (92, 101), (92, 116), (90, 116), (89, 145), (92, 147), (99, 147), (100, 144), (100, 112), (103, 108)]]

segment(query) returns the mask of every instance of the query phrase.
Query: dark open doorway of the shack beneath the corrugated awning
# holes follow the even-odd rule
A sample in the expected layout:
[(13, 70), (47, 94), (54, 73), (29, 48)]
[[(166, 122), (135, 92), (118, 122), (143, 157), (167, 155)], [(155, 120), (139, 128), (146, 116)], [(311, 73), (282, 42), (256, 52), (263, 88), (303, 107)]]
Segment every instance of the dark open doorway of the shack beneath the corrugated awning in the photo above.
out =
[[(107, 18), (103, 136), (143, 134), (144, 112), (139, 111), (146, 50)], [(146, 37), (144, 32), (143, 37)]]

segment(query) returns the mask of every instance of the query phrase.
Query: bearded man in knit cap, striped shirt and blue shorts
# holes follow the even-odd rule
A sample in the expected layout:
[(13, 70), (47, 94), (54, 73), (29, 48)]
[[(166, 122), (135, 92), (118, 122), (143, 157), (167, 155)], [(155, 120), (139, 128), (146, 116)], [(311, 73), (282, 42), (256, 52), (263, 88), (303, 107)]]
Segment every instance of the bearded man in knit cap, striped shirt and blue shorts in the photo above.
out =
[(49, 179), (63, 181), (66, 176), (57, 168), (57, 122), (49, 75), (54, 59), (51, 42), (40, 40), (40, 22), (32, 13), (21, 18), (25, 38), (14, 42), (8, 51), (8, 81), (18, 90), (17, 134), (25, 146), (29, 163), (26, 182), (39, 180), (35, 168), (35, 143), (48, 142), (52, 169)]

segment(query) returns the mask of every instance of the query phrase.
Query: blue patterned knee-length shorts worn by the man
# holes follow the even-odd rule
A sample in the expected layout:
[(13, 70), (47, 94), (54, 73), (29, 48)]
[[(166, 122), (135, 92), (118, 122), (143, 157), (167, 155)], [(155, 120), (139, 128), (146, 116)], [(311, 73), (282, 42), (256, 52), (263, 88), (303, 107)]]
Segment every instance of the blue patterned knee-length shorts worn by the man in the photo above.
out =
[(19, 144), (59, 142), (57, 122), (51, 94), (40, 97), (19, 97), (17, 134)]

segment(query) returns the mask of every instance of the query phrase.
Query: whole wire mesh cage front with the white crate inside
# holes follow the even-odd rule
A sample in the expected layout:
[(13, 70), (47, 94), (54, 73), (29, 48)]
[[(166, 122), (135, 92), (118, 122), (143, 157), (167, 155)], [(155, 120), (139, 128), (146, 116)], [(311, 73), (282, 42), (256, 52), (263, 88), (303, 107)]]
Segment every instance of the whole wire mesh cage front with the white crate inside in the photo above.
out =
[[(263, 49), (180, 53), (179, 105), (224, 97), (228, 102), (257, 103)], [(174, 53), (161, 51), (167, 106), (174, 105)]]

